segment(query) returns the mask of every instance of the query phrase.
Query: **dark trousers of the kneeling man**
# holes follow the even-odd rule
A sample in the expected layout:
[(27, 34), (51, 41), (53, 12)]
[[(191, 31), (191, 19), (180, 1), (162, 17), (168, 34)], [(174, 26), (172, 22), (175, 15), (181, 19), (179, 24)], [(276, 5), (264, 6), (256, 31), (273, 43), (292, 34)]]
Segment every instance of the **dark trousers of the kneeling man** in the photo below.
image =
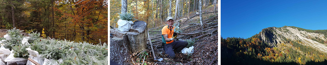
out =
[[(172, 43), (168, 43), (168, 44), (164, 45), (163, 50), (165, 51), (165, 54), (168, 54), (168, 57), (175, 58), (175, 52), (174, 51), (179, 53), (187, 45), (188, 45), (188, 42), (186, 42), (186, 41), (174, 41)], [(175, 50), (173, 50), (173, 49), (175, 49)]]

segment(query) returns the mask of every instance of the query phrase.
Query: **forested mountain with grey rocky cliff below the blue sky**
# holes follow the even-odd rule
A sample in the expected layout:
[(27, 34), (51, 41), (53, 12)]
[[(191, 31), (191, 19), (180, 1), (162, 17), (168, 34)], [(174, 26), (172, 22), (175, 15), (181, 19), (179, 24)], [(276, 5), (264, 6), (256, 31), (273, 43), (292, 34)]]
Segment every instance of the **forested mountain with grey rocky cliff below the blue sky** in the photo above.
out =
[[(222, 64), (326, 64), (327, 30), (268, 27), (250, 38), (221, 38)], [(232, 58), (231, 58), (232, 57)]]

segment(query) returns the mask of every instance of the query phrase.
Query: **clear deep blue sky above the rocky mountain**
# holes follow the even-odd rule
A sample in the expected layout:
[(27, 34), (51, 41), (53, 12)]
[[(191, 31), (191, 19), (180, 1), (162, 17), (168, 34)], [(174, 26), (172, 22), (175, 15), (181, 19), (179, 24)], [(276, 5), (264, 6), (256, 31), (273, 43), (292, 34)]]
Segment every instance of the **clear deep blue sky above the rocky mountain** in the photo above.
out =
[(267, 27), (327, 29), (327, 0), (221, 0), (221, 36), (250, 38)]

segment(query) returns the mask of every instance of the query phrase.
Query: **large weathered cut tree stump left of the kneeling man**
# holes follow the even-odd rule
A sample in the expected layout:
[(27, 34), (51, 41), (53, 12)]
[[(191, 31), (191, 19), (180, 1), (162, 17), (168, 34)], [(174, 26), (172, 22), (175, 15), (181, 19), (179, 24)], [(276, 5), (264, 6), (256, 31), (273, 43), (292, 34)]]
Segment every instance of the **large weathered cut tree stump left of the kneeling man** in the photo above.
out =
[(135, 21), (128, 32), (110, 29), (110, 60), (122, 65), (129, 65), (132, 53), (146, 49), (146, 22)]

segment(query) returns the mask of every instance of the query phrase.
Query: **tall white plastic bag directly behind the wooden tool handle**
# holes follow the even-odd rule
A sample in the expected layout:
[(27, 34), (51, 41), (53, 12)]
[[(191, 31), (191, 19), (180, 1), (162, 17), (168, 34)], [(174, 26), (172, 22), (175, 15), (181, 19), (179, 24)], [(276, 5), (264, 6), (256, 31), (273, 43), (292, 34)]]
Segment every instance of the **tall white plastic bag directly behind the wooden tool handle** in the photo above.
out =
[[(28, 51), (28, 54), (29, 54), (28, 58), (33, 59), (35, 62), (37, 62), (39, 64), (43, 64), (44, 59), (42, 59), (43, 57), (41, 57), (39, 55), (39, 52), (31, 50), (31, 48), (26, 48), (26, 50)], [(26, 65), (35, 65), (35, 64), (32, 63), (31, 61), (27, 60)]]

